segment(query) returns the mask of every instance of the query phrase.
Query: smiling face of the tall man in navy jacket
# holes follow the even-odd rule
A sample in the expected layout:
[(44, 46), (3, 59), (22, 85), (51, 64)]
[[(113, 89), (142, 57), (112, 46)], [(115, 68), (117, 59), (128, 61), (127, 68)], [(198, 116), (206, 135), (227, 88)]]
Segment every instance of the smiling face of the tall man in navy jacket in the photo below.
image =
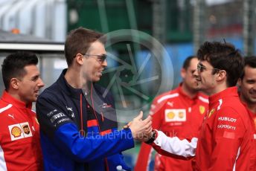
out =
[(104, 68), (107, 66), (106, 59), (101, 59), (102, 55), (106, 55), (106, 50), (101, 42), (93, 42), (87, 51), (86, 55), (83, 56), (82, 72), (83, 77), (86, 81), (97, 82), (102, 76)]

